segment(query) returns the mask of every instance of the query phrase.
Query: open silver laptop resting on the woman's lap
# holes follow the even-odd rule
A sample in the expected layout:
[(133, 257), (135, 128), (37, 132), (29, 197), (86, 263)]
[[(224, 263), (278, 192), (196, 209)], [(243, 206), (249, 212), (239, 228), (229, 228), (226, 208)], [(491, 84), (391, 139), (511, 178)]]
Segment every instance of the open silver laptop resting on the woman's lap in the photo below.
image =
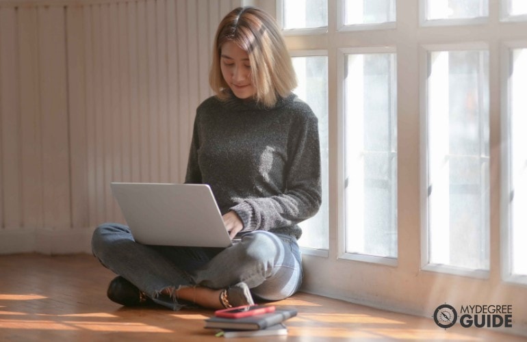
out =
[(140, 244), (229, 247), (229, 233), (209, 185), (111, 183), (123, 216)]

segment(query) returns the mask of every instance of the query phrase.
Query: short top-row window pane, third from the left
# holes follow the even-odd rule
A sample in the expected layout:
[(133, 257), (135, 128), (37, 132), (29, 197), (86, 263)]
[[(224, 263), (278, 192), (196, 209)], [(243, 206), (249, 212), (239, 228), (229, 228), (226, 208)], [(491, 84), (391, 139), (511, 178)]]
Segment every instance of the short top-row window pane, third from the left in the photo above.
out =
[(489, 16), (489, 0), (426, 0), (426, 19), (467, 19)]

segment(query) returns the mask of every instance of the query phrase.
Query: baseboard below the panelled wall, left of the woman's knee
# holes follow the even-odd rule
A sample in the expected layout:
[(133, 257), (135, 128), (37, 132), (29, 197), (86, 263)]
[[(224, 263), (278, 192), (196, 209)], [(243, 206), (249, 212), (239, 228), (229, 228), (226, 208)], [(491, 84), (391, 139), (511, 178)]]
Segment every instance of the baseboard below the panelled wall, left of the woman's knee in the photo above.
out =
[(37, 252), (41, 254), (91, 253), (93, 228), (0, 230), (0, 254)]

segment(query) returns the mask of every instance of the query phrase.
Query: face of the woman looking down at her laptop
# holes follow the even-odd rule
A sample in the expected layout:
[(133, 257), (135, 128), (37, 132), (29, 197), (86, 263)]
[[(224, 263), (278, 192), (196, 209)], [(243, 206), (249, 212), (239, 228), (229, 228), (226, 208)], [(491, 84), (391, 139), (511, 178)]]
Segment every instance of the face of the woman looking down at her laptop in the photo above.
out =
[(251, 98), (256, 94), (250, 75), (249, 55), (235, 42), (226, 42), (221, 47), (220, 64), (223, 79), (237, 98)]

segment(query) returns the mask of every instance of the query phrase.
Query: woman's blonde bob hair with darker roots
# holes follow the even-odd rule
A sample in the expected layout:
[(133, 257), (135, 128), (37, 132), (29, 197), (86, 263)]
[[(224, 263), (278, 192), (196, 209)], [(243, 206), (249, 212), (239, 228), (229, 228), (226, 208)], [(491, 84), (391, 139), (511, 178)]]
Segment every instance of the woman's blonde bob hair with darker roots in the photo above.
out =
[(258, 103), (272, 107), (279, 96), (286, 97), (296, 88), (291, 57), (274, 18), (257, 8), (240, 7), (223, 18), (214, 38), (209, 83), (220, 100), (231, 96), (220, 66), (226, 42), (234, 42), (247, 52)]

